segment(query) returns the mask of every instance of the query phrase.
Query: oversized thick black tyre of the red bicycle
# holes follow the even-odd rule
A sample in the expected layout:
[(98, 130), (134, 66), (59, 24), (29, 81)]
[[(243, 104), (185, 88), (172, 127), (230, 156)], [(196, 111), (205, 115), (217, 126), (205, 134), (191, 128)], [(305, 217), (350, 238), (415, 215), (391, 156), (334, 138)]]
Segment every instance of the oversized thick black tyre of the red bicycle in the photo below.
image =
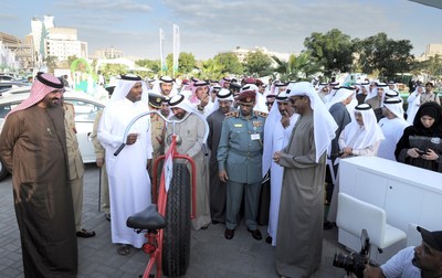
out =
[(183, 163), (173, 163), (167, 197), (162, 245), (165, 276), (183, 276), (190, 260), (190, 173)]

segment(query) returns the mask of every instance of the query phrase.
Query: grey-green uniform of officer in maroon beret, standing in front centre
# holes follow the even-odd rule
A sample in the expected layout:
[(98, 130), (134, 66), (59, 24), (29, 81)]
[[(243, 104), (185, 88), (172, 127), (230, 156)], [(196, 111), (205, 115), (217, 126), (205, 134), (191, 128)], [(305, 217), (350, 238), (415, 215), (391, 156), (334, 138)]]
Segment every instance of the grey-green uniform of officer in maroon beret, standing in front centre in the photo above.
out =
[(238, 226), (236, 215), (243, 191), (245, 224), (252, 231), (257, 228), (265, 117), (264, 113), (252, 111), (250, 119), (246, 119), (241, 111), (232, 111), (222, 125), (218, 162), (219, 170), (225, 170), (229, 177), (225, 213), (225, 226), (229, 229)]

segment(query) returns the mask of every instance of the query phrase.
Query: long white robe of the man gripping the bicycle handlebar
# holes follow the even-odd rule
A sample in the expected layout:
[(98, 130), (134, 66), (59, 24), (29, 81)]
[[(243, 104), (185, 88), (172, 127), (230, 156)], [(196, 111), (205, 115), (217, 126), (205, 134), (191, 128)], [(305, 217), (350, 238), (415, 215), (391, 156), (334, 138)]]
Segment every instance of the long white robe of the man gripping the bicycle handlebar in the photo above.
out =
[(140, 248), (144, 234), (126, 226), (128, 216), (143, 211), (150, 204), (150, 179), (146, 170), (151, 159), (150, 117), (137, 120), (129, 133), (139, 133), (134, 145), (126, 146), (118, 156), (114, 152), (122, 145), (129, 121), (149, 109), (147, 103), (131, 103), (127, 98), (110, 103), (103, 111), (98, 125), (98, 140), (106, 149), (106, 170), (109, 182), (112, 242), (130, 244)]

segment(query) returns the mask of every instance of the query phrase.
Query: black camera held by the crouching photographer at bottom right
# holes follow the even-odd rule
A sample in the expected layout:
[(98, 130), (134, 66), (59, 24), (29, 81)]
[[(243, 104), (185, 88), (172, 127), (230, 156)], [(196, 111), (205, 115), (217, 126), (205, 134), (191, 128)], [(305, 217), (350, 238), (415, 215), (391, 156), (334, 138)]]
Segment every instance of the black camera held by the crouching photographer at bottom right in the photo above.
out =
[(333, 266), (344, 268), (347, 275), (354, 274), (358, 278), (364, 278), (364, 269), (370, 263), (370, 238), (368, 237), (367, 229), (362, 229), (360, 235), (360, 252), (350, 253), (348, 255), (336, 253), (333, 260)]

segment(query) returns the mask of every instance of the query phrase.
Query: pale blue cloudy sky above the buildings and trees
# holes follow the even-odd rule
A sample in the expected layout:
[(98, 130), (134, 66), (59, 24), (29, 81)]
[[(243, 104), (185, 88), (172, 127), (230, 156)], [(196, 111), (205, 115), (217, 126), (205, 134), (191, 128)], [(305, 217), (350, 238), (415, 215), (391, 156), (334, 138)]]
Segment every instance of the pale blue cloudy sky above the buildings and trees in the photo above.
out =
[(408, 0), (2, 0), (0, 32), (23, 39), (32, 18), (48, 14), (55, 26), (77, 29), (90, 55), (113, 46), (149, 60), (159, 60), (159, 29), (166, 55), (172, 53), (172, 24), (180, 29), (181, 52), (197, 60), (236, 46), (296, 54), (305, 38), (332, 29), (351, 39), (385, 32), (410, 40), (415, 56), (442, 43), (442, 10)]

